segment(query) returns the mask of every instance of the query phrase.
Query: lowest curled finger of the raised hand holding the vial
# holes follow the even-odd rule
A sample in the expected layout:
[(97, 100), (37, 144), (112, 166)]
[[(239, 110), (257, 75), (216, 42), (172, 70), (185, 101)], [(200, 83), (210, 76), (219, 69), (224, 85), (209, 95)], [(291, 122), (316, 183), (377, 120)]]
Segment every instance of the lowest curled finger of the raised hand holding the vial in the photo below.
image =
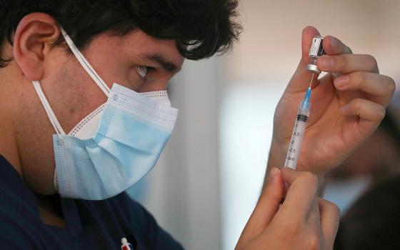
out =
[(384, 106), (360, 98), (350, 101), (349, 104), (342, 106), (339, 111), (345, 116), (359, 116), (362, 120), (374, 122), (376, 126), (384, 119), (386, 114)]

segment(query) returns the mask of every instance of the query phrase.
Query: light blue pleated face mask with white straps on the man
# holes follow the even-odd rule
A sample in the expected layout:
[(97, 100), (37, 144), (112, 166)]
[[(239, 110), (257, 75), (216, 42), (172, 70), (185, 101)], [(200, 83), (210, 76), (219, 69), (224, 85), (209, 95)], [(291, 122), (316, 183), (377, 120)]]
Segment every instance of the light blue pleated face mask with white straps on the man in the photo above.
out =
[[(116, 83), (109, 89), (66, 32), (61, 32), (108, 100), (66, 134), (39, 81), (33, 81), (56, 130), (54, 186), (66, 198), (108, 199), (129, 189), (153, 168), (171, 136), (178, 110), (170, 106), (166, 91), (136, 93)], [(144, 68), (138, 72), (146, 75)]]

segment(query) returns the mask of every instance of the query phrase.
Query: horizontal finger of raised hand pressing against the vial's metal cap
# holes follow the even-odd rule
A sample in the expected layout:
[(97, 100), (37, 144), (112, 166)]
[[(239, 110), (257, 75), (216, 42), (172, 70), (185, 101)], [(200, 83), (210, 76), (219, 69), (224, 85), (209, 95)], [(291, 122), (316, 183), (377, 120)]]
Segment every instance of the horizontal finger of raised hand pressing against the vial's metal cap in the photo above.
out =
[(349, 74), (355, 71), (379, 73), (378, 63), (374, 56), (361, 54), (341, 54), (321, 56), (316, 61), (321, 71)]

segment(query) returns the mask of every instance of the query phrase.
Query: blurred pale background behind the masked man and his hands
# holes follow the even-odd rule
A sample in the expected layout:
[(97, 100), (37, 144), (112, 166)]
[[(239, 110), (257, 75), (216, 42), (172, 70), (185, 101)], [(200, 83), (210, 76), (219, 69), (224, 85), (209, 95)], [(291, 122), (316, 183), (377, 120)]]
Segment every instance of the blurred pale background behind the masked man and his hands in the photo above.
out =
[[(176, 130), (155, 169), (129, 190), (186, 249), (234, 249), (261, 191), (274, 109), (299, 63), (305, 26), (374, 55), (381, 74), (400, 82), (398, 0), (242, 0), (240, 13), (244, 33), (231, 54), (186, 61), (171, 81)], [(324, 195), (342, 213), (376, 181), (376, 166), (396, 162), (396, 122), (369, 143), (381, 151), (363, 149), (327, 181)]]

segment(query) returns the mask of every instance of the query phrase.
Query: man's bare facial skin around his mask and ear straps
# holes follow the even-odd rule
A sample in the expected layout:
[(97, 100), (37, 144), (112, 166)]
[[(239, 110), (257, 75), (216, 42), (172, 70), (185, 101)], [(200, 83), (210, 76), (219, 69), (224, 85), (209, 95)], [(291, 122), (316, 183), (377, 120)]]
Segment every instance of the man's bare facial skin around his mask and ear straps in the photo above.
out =
[[(141, 30), (126, 36), (101, 34), (83, 51), (96, 72), (111, 88), (114, 82), (137, 92), (166, 89), (167, 82), (183, 64), (173, 40), (154, 39)], [(85, 116), (106, 102), (106, 96), (86, 74), (74, 55), (61, 46), (51, 49), (40, 79), (49, 103), (64, 131), (68, 133)], [(144, 79), (137, 66), (148, 66)], [(25, 82), (26, 81), (26, 82)], [(55, 134), (39, 97), (28, 79), (18, 89), (19, 119), (16, 139), (24, 179), (34, 191), (53, 194)]]

